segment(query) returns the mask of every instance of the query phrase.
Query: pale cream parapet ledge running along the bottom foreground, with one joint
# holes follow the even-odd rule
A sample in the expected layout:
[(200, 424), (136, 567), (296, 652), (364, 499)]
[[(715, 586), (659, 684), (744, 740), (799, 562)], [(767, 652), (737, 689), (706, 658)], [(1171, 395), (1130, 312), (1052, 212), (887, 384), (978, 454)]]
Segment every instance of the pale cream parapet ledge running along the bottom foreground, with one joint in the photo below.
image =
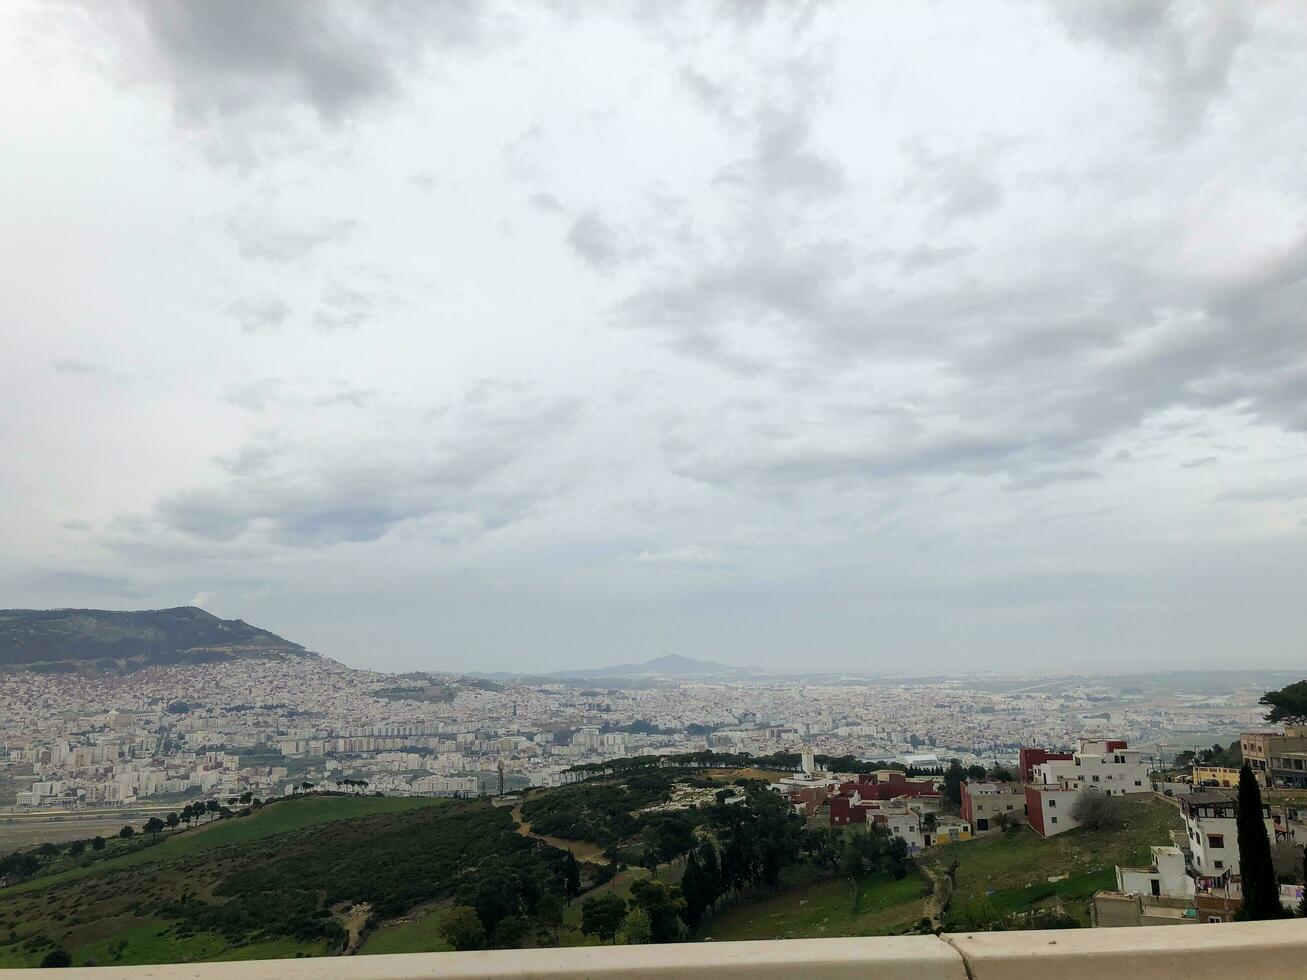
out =
[[(77, 980), (1131, 980), (1307, 975), (1307, 923), (413, 953), (65, 970)], [(10, 980), (27, 971), (0, 970)]]

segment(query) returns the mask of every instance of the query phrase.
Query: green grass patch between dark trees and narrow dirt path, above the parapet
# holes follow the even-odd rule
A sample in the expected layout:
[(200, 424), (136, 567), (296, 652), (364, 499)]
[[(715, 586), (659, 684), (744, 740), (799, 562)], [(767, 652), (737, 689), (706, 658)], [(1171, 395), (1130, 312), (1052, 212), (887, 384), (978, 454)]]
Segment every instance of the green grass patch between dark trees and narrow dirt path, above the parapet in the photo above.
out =
[(725, 942), (899, 933), (921, 917), (924, 886), (918, 874), (902, 881), (868, 875), (856, 908), (853, 890), (843, 878), (791, 887), (718, 912), (699, 930), (701, 938)]

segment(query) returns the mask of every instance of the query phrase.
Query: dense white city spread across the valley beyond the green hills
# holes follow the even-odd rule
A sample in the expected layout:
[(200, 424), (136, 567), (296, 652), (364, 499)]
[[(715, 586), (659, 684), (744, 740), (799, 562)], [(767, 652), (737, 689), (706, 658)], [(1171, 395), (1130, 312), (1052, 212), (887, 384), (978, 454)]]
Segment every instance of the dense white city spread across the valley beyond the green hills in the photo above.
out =
[[(1180, 685), (1176, 681), (1176, 685)], [(1256, 728), (1260, 691), (1103, 678), (495, 682), (356, 670), (316, 656), (0, 674), (3, 806), (281, 796), (367, 784), (476, 796), (571, 781), (618, 757), (806, 749), (864, 760), (1013, 764), (1023, 745), (1124, 737), (1165, 762)]]

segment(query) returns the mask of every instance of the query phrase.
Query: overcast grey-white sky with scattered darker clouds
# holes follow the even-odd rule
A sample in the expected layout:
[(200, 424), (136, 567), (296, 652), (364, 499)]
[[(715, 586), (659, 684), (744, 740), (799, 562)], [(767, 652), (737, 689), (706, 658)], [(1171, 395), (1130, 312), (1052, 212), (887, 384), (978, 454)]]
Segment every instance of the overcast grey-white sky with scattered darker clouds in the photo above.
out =
[(1307, 7), (7, 3), (0, 606), (1295, 666)]

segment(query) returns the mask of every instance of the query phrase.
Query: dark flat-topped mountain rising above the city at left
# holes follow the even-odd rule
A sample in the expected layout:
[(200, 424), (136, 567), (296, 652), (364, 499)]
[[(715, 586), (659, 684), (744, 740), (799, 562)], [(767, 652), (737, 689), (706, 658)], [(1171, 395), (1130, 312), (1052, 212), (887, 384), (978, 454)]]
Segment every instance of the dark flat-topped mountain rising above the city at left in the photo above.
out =
[(240, 619), (196, 609), (0, 609), (0, 669), (133, 670), (231, 657), (315, 657), (298, 643)]

